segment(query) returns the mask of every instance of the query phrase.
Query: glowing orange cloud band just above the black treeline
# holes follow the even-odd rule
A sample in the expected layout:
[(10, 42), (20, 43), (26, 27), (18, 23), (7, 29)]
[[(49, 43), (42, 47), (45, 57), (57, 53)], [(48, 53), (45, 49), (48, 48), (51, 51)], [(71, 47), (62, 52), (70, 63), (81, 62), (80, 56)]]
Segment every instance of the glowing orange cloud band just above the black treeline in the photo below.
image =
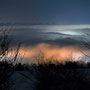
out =
[[(15, 53), (15, 52), (13, 52)], [(8, 56), (11, 56), (11, 52)], [(24, 62), (34, 62), (37, 58), (44, 56), (44, 60), (58, 60), (58, 61), (65, 61), (65, 60), (78, 60), (79, 57), (82, 57), (83, 54), (73, 46), (52, 46), (49, 44), (39, 44), (33, 47), (23, 47), (19, 51), (19, 56), (24, 56)], [(36, 62), (35, 60), (35, 62)]]

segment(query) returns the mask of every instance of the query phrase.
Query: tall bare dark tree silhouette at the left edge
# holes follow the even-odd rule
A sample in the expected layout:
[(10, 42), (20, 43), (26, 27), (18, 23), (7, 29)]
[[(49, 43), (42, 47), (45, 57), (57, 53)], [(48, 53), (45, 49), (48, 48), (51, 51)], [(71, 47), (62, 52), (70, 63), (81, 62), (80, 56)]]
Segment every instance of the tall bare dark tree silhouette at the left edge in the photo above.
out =
[[(10, 29), (10, 28), (9, 28)], [(21, 47), (21, 43), (15, 48), (16, 53), (12, 58), (11, 63), (8, 63), (7, 55), (12, 51), (11, 47), (11, 37), (10, 30), (8, 28), (1, 28), (0, 30), (0, 89), (1, 90), (11, 90), (12, 83), (11, 76), (15, 72), (13, 69), (13, 63), (17, 63), (18, 53)], [(10, 59), (10, 58), (9, 58)]]

